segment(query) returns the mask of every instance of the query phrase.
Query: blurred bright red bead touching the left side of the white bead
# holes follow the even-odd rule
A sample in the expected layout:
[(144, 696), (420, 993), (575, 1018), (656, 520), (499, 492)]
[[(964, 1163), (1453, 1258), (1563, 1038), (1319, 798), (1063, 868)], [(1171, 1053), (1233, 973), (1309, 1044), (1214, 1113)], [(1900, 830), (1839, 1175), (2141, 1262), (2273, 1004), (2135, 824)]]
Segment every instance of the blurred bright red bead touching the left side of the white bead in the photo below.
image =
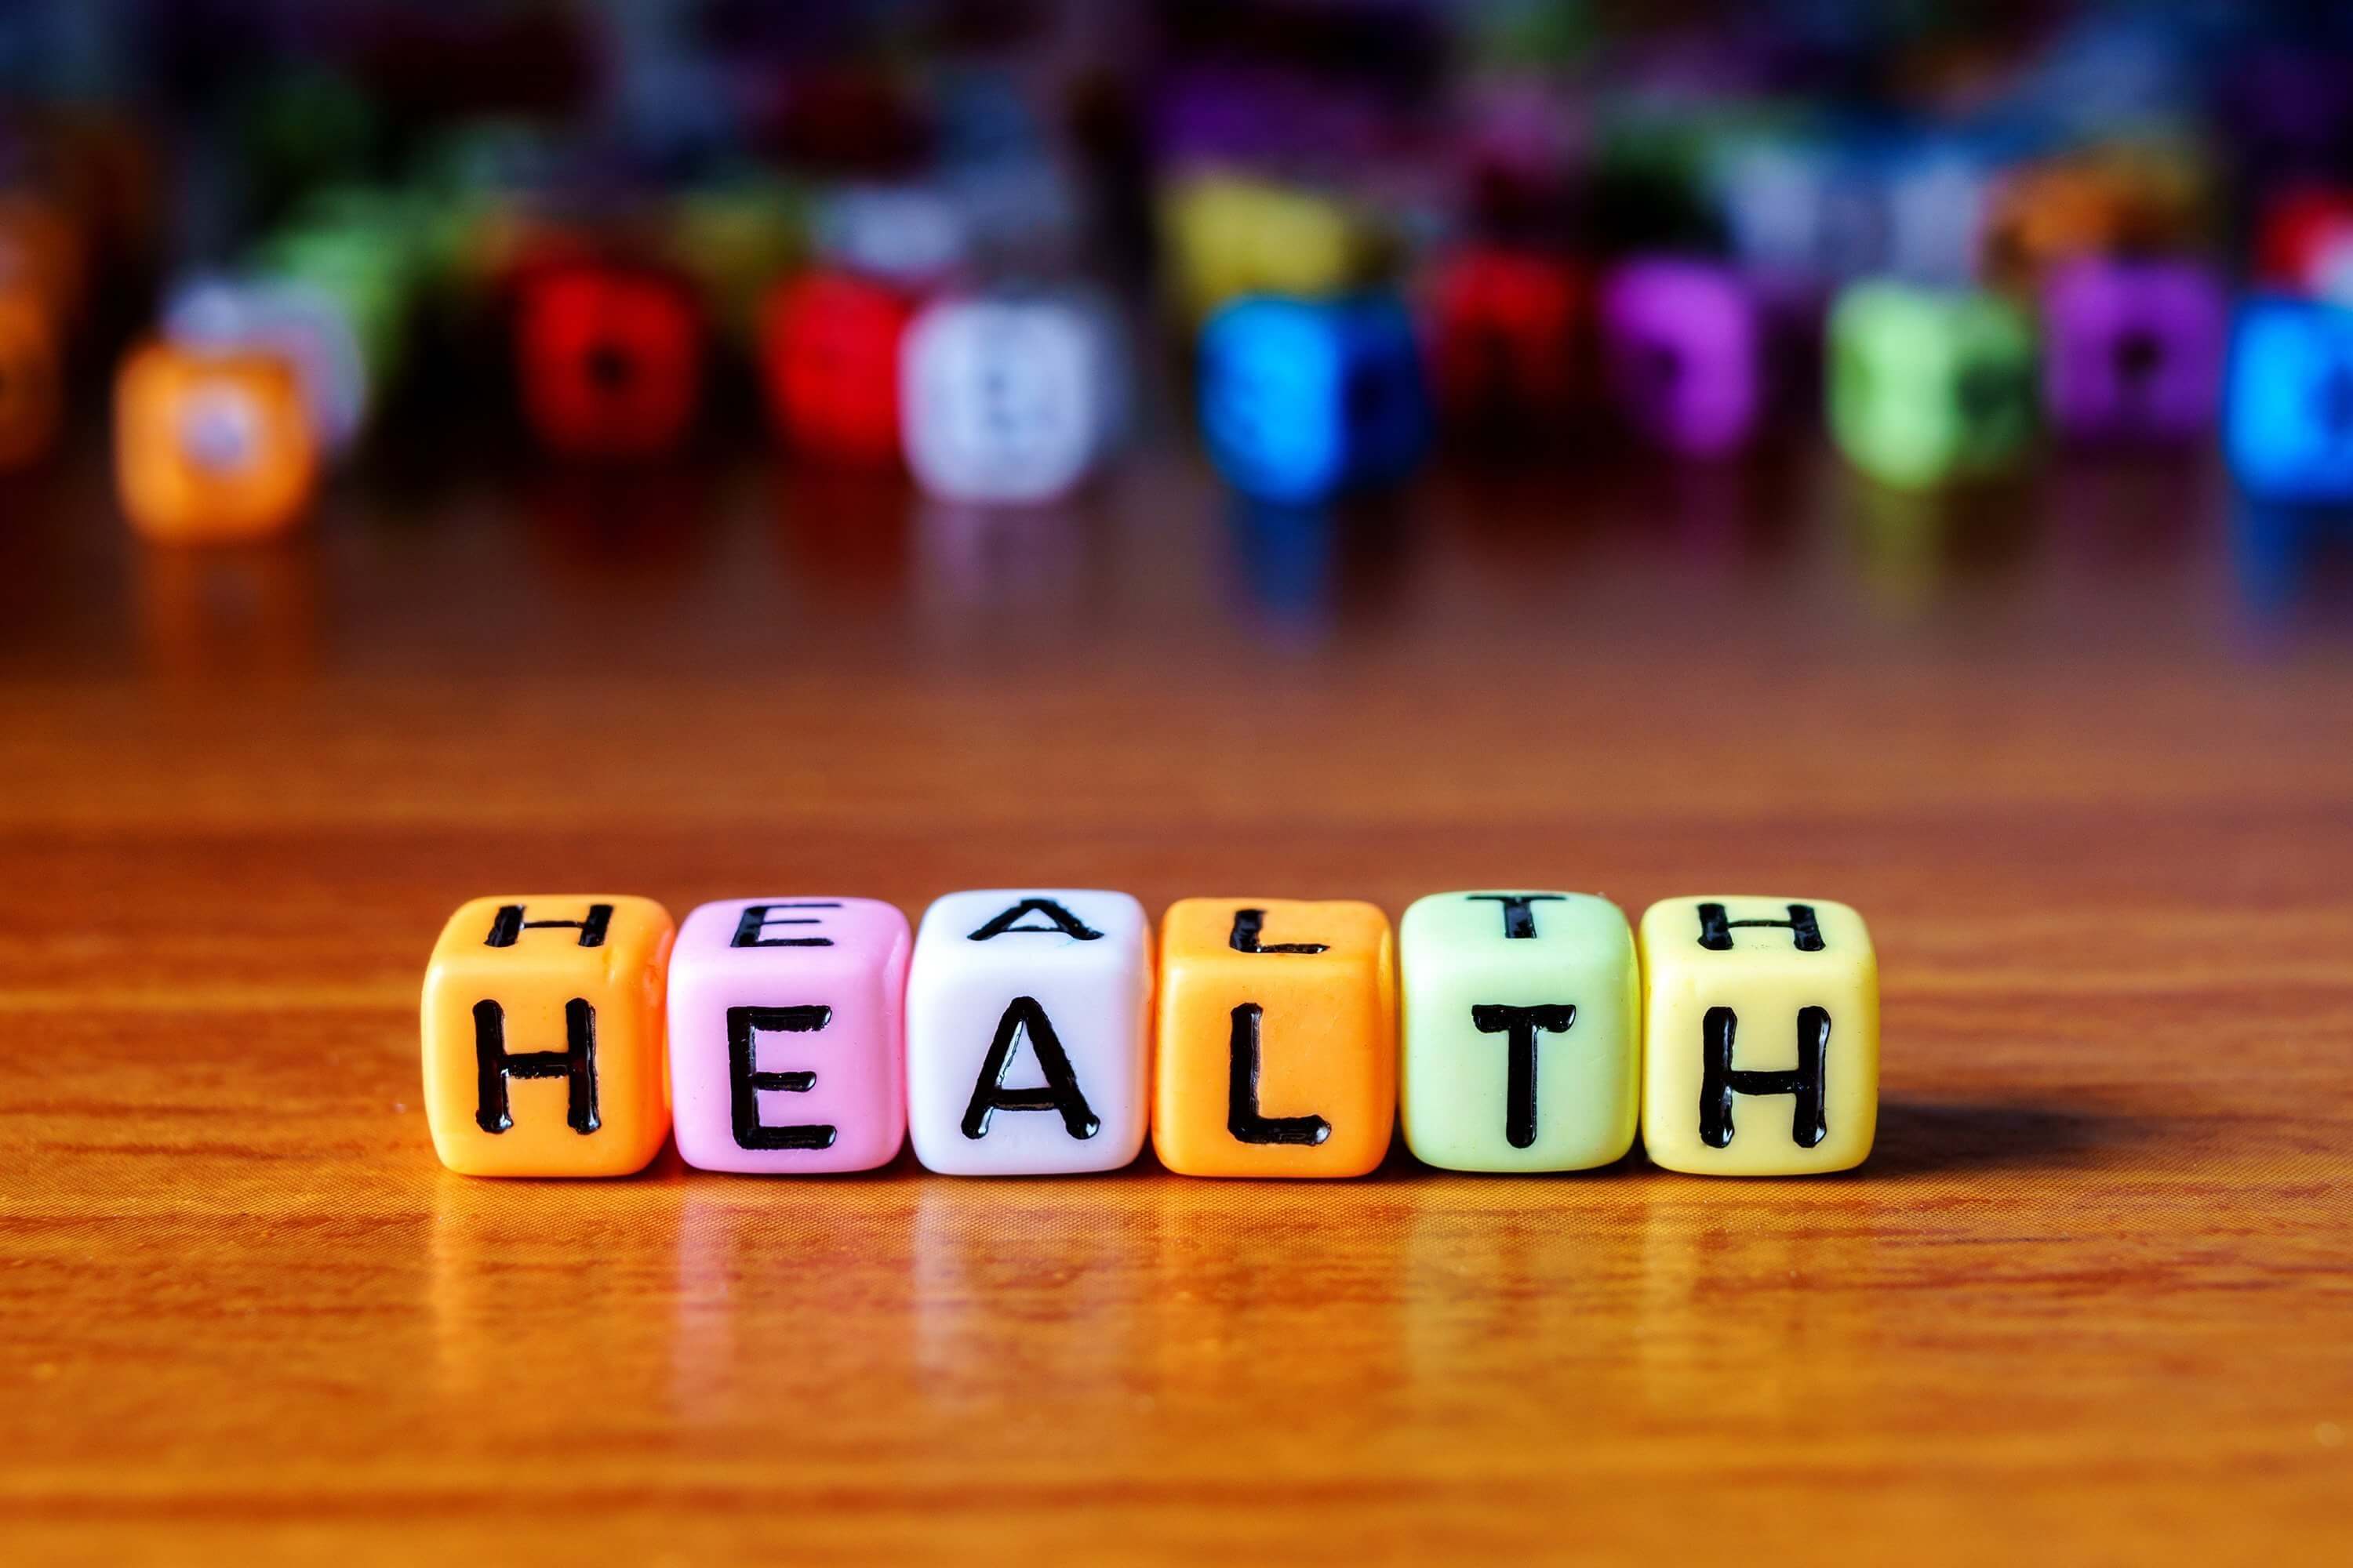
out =
[(840, 463), (899, 458), (899, 343), (915, 303), (849, 273), (802, 273), (769, 296), (760, 378), (795, 449)]

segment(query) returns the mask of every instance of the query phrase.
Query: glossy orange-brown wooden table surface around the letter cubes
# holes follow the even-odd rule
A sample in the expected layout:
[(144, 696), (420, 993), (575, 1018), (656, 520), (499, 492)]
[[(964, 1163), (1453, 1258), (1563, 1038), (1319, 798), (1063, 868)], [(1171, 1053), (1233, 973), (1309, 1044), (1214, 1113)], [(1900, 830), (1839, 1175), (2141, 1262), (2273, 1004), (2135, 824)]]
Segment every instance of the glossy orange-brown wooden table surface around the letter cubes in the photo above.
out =
[[(2353, 595), (2202, 463), (0, 491), (0, 1556), (2353, 1561)], [(438, 1168), (487, 891), (1873, 922), (1852, 1178)]]

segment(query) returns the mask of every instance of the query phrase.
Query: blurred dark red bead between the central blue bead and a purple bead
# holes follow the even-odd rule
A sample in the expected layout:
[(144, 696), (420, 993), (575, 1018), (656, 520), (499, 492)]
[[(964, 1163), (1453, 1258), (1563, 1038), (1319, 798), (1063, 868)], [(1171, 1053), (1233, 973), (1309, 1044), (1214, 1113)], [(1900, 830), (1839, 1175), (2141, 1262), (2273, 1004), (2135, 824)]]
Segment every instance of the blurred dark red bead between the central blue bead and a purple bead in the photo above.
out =
[(1584, 268), (1565, 256), (1471, 247), (1431, 284), (1431, 383), (1447, 418), (1558, 428), (1584, 376)]

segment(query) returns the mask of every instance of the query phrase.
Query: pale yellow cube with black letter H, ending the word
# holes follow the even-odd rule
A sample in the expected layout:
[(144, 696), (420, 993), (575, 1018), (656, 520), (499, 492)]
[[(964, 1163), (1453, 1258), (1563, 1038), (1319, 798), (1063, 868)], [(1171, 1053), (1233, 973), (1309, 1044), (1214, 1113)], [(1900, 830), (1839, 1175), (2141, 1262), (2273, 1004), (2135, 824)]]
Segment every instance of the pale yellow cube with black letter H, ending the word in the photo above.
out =
[(1694, 1175), (1819, 1175), (1871, 1154), (1880, 971), (1842, 903), (1668, 898), (1642, 947), (1642, 1145)]

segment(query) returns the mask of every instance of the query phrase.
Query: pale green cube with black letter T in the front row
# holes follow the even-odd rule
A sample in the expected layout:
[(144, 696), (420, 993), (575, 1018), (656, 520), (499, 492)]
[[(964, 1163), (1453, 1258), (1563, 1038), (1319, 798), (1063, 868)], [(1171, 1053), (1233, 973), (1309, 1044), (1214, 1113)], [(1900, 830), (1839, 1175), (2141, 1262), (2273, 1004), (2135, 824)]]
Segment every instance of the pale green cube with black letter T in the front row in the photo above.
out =
[(1442, 1171), (1584, 1171), (1633, 1147), (1640, 969), (1588, 893), (1431, 893), (1398, 929), (1405, 1143)]

